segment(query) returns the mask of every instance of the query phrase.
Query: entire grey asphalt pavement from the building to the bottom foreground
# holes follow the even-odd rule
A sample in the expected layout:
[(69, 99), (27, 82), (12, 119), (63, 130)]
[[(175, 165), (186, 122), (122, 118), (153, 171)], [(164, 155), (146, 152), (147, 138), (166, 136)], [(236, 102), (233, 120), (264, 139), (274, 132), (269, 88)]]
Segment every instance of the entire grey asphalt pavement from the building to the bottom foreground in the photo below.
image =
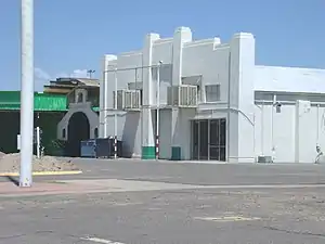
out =
[[(127, 179), (131, 187), (132, 180), (178, 184), (159, 191), (143, 188), (138, 192), (0, 197), (0, 243), (325, 242), (324, 166), (77, 163), (84, 170), (82, 176), (35, 179)], [(312, 185), (298, 185), (302, 183)], [(198, 189), (188, 189), (188, 184)]]

